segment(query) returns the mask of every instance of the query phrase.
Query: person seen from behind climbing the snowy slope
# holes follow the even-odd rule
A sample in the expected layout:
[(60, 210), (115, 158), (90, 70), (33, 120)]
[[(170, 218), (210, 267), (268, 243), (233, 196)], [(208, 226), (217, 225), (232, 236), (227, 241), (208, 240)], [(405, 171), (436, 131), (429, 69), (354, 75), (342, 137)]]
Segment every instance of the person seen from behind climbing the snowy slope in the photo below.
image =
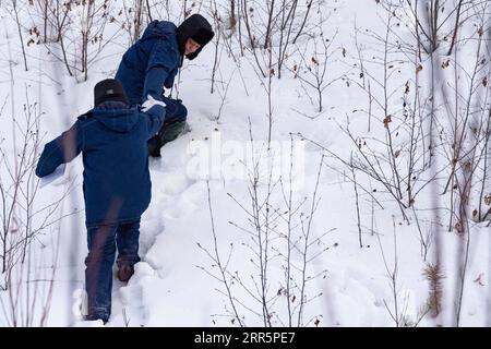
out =
[(111, 313), (112, 264), (118, 248), (118, 278), (128, 281), (140, 261), (140, 217), (151, 202), (146, 142), (161, 127), (163, 103), (152, 98), (130, 107), (120, 82), (94, 87), (94, 109), (47, 143), (36, 167), (45, 177), (83, 154), (83, 192), (88, 254), (85, 258), (87, 314), (103, 320)]

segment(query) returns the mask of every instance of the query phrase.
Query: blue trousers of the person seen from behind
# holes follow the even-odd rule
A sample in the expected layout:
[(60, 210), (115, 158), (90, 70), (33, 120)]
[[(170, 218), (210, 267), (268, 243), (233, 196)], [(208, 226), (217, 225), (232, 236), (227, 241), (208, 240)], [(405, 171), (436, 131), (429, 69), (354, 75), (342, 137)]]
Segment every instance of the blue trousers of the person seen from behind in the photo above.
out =
[(112, 264), (118, 248), (118, 266), (134, 265), (139, 257), (140, 217), (115, 224), (87, 226), (85, 258), (86, 320), (107, 322), (111, 314)]

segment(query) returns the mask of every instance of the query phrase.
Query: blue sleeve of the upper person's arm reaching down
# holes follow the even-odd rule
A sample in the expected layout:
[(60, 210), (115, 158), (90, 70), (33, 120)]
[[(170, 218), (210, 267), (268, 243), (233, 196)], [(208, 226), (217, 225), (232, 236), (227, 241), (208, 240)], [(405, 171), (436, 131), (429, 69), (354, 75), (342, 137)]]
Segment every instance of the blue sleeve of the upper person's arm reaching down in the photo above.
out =
[(175, 65), (172, 57), (170, 44), (165, 39), (159, 39), (154, 45), (148, 57), (142, 100), (145, 100), (147, 95), (151, 95), (157, 100), (161, 100), (164, 85), (166, 85), (168, 77), (171, 77), (170, 75)]

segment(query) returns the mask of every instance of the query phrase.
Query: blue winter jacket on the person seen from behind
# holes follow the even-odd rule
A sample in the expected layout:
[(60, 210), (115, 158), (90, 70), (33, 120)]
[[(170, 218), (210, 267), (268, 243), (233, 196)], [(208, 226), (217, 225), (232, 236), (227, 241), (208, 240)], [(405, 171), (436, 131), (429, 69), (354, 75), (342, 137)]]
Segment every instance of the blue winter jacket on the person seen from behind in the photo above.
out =
[(142, 112), (105, 103), (45, 145), (36, 176), (51, 173), (82, 152), (86, 224), (137, 218), (151, 201), (146, 142), (161, 127), (163, 113), (158, 105)]

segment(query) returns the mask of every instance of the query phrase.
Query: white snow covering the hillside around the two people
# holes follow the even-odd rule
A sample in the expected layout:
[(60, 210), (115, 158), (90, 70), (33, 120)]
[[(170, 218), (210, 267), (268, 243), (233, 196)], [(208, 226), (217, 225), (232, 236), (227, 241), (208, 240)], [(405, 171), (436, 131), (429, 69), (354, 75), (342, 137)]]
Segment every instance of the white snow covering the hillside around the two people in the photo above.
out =
[[(112, 315), (107, 326), (237, 326), (239, 323), (233, 317), (230, 299), (243, 324), (263, 326), (265, 317), (260, 299), (263, 287), (274, 326), (290, 325), (289, 313), (294, 326), (395, 326), (395, 317), (399, 325), (454, 325), (460, 287), (459, 265), (467, 240), (448, 231), (447, 209), (433, 209), (448, 205), (448, 194), (440, 193), (450, 172), (442, 172), (435, 186), (428, 185), (421, 191), (415, 209), (405, 209), (408, 221), (382, 184), (357, 173), (360, 248), (352, 173), (333, 156), (349, 163), (357, 151), (342, 130), (348, 123), (354, 135), (383, 151), (384, 146), (376, 141), (385, 140), (384, 117), (374, 107), (368, 132), (368, 115), (360, 111), (367, 110), (369, 97), (349, 79), (356, 80), (360, 74), (355, 22), (360, 33), (370, 29), (383, 36), (385, 12), (371, 0), (323, 1), (320, 9), (326, 17), (331, 14), (322, 23), (324, 38), (333, 40), (328, 49), (332, 56), (327, 59), (326, 82), (339, 80), (323, 92), (322, 112), (316, 110), (315, 91), (295, 79), (294, 72), (284, 69), (280, 80), (276, 76), (272, 80), (274, 152), (268, 153), (265, 143), (261, 143), (267, 141), (267, 79), (259, 79), (251, 53), (240, 57), (237, 51), (235, 62), (226, 49), (219, 50), (214, 94), (209, 93), (214, 43), (196, 60), (184, 62), (179, 97), (189, 110), (191, 132), (165, 145), (161, 158), (151, 158), (153, 196), (142, 218), (142, 262), (136, 265), (128, 285), (115, 277)], [(27, 21), (28, 10), (21, 9), (21, 15)], [(88, 80), (76, 82), (68, 75), (62, 62), (47, 53), (44, 45), (26, 46), (29, 69), (25, 71), (16, 24), (11, 9), (3, 3), (0, 17), (0, 104), (5, 101), (0, 115), (0, 146), (7, 155), (13, 155), (12, 112), (22, 119), (28, 97), (31, 104), (38, 104), (37, 110), (43, 113), (41, 145), (59, 135), (77, 115), (92, 108), (93, 86), (101, 79), (113, 76), (127, 41), (115, 39), (112, 47), (108, 47), (89, 68)], [(27, 24), (22, 28), (26, 38), (28, 29)], [(408, 36), (409, 33), (400, 29), (399, 35)], [(373, 37), (359, 34), (357, 40), (369, 62), (371, 57), (381, 56), (383, 47), (376, 47)], [(307, 62), (311, 60), (308, 56), (311, 44), (306, 37), (300, 37), (297, 43), (300, 50), (304, 49)], [(285, 64), (289, 69), (301, 65), (298, 51)], [(399, 72), (394, 72), (392, 88), (403, 86), (388, 106), (395, 112), (400, 109), (405, 82), (414, 77), (414, 67), (409, 59), (394, 64)], [(383, 74), (376, 68), (374, 72), (379, 76)], [(373, 94), (376, 96), (381, 92), (374, 86)], [(319, 145), (327, 151), (323, 153)], [(261, 233), (270, 233), (267, 238), (261, 237), (263, 244), (266, 241), (270, 244), (266, 248), (258, 245), (258, 234), (254, 234), (254, 204), (251, 201), (254, 161), (251, 154), (255, 154), (255, 161), (261, 158), (266, 163), (272, 154), (280, 161), (271, 180), (267, 166), (258, 178), (258, 203), (261, 205), (267, 198), (268, 204), (258, 210), (255, 218), (265, 224), (266, 207), (271, 214), (270, 226), (265, 224), (261, 230)], [(290, 155), (294, 158), (292, 183), (289, 181)], [(438, 158), (440, 166), (445, 160), (443, 156)], [(0, 169), (3, 181), (7, 178), (4, 164)], [(49, 277), (56, 265), (49, 317), (45, 323), (49, 326), (70, 326), (80, 320), (86, 254), (82, 170), (79, 157), (68, 166), (63, 181), (39, 189), (37, 194), (37, 204), (44, 207), (73, 184), (62, 209), (64, 214), (79, 212), (43, 230), (32, 241), (35, 263), (29, 273)], [(420, 176), (421, 179), (429, 178), (431, 172)], [(291, 200), (290, 184), (294, 186)], [(313, 201), (315, 209), (310, 219)], [(469, 260), (459, 323), (463, 326), (491, 324), (491, 236), (487, 224), (470, 222)], [(309, 242), (313, 243), (308, 244), (308, 281), (301, 301), (307, 229)], [(431, 238), (424, 258), (421, 236), (428, 234)], [(439, 246), (435, 236), (440, 237)], [(268, 255), (261, 255), (260, 251)], [(430, 313), (421, 316), (430, 294), (424, 269), (428, 263), (434, 263), (436, 251), (441, 253), (444, 275), (443, 308), (438, 317)], [(216, 252), (220, 264), (226, 265), (230, 297), (221, 281)], [(267, 266), (260, 265), (261, 261), (267, 261)], [(261, 270), (265, 274), (263, 287)], [(289, 297), (285, 291), (288, 272)], [(395, 277), (391, 278), (391, 275)], [(39, 288), (39, 299), (45, 299), (49, 288)], [(10, 312), (9, 297), (8, 291), (0, 291), (4, 312)], [(21, 303), (25, 297), (28, 296), (21, 297)], [(3, 318), (8, 317), (2, 313), (2, 326), (12, 325)]]

